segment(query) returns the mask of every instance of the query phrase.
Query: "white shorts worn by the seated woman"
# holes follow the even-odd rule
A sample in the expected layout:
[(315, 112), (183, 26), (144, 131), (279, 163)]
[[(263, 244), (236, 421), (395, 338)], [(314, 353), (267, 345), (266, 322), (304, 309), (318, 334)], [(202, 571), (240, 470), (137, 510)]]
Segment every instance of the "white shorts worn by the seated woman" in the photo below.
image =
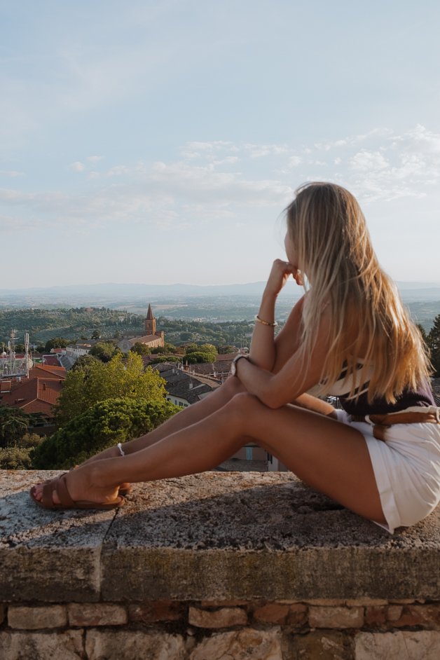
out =
[(434, 511), (440, 502), (440, 424), (393, 424), (383, 442), (376, 440), (368, 422), (352, 422), (343, 410), (336, 413), (366, 440), (387, 521), (376, 524), (392, 534)]

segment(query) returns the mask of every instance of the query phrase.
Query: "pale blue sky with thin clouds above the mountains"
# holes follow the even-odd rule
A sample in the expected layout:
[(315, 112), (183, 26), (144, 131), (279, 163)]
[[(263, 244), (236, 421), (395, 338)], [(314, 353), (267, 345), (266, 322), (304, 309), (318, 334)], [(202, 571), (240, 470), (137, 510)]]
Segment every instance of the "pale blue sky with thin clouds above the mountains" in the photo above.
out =
[(438, 0), (0, 0), (1, 289), (265, 280), (305, 181), (440, 282)]

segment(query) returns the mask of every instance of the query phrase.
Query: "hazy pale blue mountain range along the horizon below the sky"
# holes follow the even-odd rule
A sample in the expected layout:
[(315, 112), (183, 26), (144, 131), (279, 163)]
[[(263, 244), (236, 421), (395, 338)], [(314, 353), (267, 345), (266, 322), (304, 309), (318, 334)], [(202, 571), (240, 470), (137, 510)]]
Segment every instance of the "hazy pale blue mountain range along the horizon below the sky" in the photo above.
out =
[[(0, 289), (0, 305), (104, 305), (123, 301), (153, 301), (158, 298), (200, 298), (219, 296), (261, 296), (266, 282), (248, 284), (72, 284), (60, 287)], [(404, 301), (440, 301), (440, 282), (397, 282)], [(298, 298), (301, 289), (288, 282), (280, 296)]]

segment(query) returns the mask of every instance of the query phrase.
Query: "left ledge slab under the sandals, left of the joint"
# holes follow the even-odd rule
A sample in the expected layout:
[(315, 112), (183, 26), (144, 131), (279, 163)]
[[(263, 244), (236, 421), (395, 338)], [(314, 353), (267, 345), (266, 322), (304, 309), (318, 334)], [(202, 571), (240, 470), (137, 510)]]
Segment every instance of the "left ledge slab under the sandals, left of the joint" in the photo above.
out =
[(46, 511), (34, 483), (62, 472), (0, 470), (0, 593), (4, 600), (98, 600), (99, 556), (114, 511)]

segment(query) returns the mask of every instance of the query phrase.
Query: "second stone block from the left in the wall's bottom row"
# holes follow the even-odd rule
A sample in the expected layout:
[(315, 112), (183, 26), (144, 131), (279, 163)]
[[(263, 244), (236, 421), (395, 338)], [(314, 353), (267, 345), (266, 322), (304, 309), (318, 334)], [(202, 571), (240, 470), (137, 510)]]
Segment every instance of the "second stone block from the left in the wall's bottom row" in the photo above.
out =
[[(88, 660), (186, 660), (181, 635), (141, 631), (99, 631), (85, 635)], [(207, 659), (205, 659), (207, 660)]]

